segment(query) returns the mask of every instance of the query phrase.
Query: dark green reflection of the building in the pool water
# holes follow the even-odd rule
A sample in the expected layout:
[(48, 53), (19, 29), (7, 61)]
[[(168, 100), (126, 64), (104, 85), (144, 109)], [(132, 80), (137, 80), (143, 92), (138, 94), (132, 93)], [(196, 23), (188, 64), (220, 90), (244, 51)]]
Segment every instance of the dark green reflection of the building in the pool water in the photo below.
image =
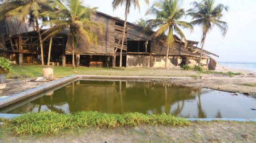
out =
[[(198, 95), (201, 95), (201, 89), (158, 82), (76, 81), (54, 91), (54, 95), (45, 95), (11, 112), (51, 110), (72, 113), (92, 110), (107, 113), (164, 112), (178, 115), (182, 112), (185, 101), (196, 99)], [(202, 117), (204, 113), (200, 102), (198, 112)]]

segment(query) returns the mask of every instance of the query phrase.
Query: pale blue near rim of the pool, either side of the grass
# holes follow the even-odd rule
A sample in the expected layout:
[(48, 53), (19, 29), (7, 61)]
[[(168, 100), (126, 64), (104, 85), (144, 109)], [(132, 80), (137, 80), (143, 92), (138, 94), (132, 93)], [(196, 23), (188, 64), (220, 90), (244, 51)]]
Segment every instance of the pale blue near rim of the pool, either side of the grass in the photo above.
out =
[[(11, 119), (14, 117), (19, 117), (22, 114), (0, 114), (0, 118)], [(240, 119), (240, 118), (186, 118), (188, 121), (255, 121), (256, 119)]]

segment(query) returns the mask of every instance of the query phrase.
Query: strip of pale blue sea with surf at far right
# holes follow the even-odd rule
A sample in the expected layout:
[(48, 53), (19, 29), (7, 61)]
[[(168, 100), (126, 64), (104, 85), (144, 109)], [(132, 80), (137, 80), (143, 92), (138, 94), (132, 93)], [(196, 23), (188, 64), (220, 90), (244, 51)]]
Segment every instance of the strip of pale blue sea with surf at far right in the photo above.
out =
[(256, 72), (256, 62), (219, 62), (225, 68), (243, 69)]

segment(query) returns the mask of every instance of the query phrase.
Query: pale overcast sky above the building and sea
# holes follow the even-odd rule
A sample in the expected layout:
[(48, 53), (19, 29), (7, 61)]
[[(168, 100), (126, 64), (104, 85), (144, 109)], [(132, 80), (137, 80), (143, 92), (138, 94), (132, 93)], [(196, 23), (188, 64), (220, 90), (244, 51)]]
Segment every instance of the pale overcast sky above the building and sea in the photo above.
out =
[[(155, 0), (149, 0), (150, 5)], [(190, 8), (191, 2), (194, 0), (183, 0), (183, 7), (187, 10)], [(199, 2), (200, 0), (198, 0)], [(116, 11), (112, 10), (112, 0), (85, 0), (85, 5), (90, 7), (98, 7), (98, 11), (105, 14), (120, 17), (124, 19), (124, 7), (119, 7)], [(217, 27), (208, 34), (205, 49), (211, 51), (220, 58), (213, 57), (218, 61), (229, 62), (256, 62), (256, 0), (216, 0), (229, 6), (229, 12), (224, 13), (223, 21), (228, 22), (229, 30), (226, 37), (223, 38)], [(128, 22), (135, 22), (139, 18), (150, 19), (152, 16), (145, 16), (147, 4), (144, 0), (140, 0), (141, 11), (131, 9), (128, 16)], [(184, 19), (190, 22), (190, 18)], [(186, 30), (185, 30), (186, 31)], [(199, 27), (194, 27), (194, 33), (186, 31), (188, 40), (200, 41), (202, 31)]]

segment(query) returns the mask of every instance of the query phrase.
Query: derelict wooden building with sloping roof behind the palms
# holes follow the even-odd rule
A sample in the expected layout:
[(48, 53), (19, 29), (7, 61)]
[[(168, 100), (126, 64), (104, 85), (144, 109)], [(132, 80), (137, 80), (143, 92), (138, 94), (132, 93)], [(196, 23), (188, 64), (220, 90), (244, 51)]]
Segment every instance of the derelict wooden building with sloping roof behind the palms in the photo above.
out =
[[(88, 44), (85, 38), (80, 37), (75, 46), (77, 66), (117, 66), (120, 62), (120, 48), (124, 21), (101, 12), (92, 15), (92, 21), (101, 22), (103, 34), (98, 35), (97, 44)], [(42, 30), (43, 32), (44, 30)], [(97, 32), (97, 31), (96, 31)], [(125, 67), (154, 67), (165, 66), (167, 44), (164, 37), (152, 39), (145, 44), (153, 31), (144, 30), (135, 24), (129, 23), (125, 32), (122, 65)], [(200, 48), (198, 42), (184, 42), (175, 37), (175, 44), (170, 49), (167, 65), (169, 68), (182, 65), (198, 65)], [(47, 60), (49, 40), (44, 41), (44, 59)], [(202, 64), (207, 68), (211, 60), (209, 51), (203, 52)], [(16, 64), (39, 64), (41, 62), (39, 38), (35, 29), (11, 18), (0, 22), (0, 56), (10, 59)], [(68, 30), (58, 33), (53, 38), (50, 62), (53, 65), (66, 66), (72, 63), (71, 40)]]

